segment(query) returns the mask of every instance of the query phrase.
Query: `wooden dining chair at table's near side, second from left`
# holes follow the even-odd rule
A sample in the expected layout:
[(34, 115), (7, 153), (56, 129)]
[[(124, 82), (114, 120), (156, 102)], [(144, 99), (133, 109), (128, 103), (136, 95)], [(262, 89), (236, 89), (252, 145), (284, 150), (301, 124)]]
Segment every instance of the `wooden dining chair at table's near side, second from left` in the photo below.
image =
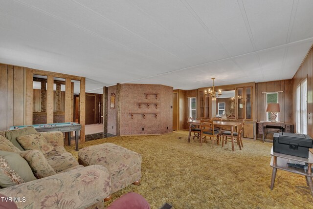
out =
[(202, 145), (202, 139), (206, 137), (210, 137), (210, 140), (212, 141), (212, 148), (214, 147), (214, 141), (217, 141), (217, 144), (219, 144), (219, 138), (220, 138), (220, 130), (214, 129), (214, 121), (208, 118), (201, 118), (201, 135), (200, 135), (200, 145)]

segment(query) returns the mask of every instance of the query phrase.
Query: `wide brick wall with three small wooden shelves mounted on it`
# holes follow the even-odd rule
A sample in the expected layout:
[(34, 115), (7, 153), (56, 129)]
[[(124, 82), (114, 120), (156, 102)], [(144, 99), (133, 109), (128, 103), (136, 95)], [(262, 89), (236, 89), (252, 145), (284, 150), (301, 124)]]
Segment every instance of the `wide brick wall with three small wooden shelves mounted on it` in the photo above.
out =
[[(144, 93), (158, 93), (148, 95), (146, 99)], [(155, 104), (141, 104), (158, 103)], [(172, 132), (173, 125), (173, 87), (155, 84), (121, 84), (121, 135), (131, 134), (162, 134)], [(157, 113), (134, 115), (130, 113)], [(108, 122), (109, 123), (109, 122)], [(144, 128), (144, 130), (142, 130)]]

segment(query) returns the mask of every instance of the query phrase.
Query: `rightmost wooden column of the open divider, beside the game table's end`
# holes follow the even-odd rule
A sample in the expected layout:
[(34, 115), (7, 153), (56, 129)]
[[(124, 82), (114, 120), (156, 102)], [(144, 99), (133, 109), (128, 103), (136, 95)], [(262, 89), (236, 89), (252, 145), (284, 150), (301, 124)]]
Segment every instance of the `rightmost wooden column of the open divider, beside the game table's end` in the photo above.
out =
[(80, 79), (80, 94), (79, 94), (79, 123), (82, 125), (80, 131), (80, 142), (85, 142), (85, 119), (86, 119), (86, 89), (85, 78)]

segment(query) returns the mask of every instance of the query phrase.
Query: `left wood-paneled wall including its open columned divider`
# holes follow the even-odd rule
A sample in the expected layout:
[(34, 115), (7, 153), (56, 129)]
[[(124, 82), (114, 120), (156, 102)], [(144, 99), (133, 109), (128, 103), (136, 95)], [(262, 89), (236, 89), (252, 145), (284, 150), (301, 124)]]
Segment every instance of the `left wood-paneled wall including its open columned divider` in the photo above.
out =
[[(80, 124), (81, 142), (85, 142), (85, 78), (55, 73), (21, 66), (0, 63), (0, 130), (12, 125), (32, 125), (33, 123), (33, 74), (47, 76), (47, 123), (53, 123), (53, 78), (65, 78), (80, 81)], [(69, 83), (69, 81), (67, 81)], [(67, 90), (71, 90), (69, 87)], [(67, 104), (69, 103), (67, 93)], [(69, 120), (72, 105), (65, 106)], [(72, 114), (71, 114), (72, 115)], [(66, 121), (69, 122), (69, 121)]]

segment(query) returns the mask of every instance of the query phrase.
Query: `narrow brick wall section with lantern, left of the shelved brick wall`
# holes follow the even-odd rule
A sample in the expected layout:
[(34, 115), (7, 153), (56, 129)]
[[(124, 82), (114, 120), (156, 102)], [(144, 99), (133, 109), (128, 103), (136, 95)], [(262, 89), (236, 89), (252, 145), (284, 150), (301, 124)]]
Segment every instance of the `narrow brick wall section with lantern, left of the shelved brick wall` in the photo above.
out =
[(116, 106), (115, 109), (110, 108), (111, 93), (116, 95), (116, 85), (108, 87), (108, 133), (116, 135)]

